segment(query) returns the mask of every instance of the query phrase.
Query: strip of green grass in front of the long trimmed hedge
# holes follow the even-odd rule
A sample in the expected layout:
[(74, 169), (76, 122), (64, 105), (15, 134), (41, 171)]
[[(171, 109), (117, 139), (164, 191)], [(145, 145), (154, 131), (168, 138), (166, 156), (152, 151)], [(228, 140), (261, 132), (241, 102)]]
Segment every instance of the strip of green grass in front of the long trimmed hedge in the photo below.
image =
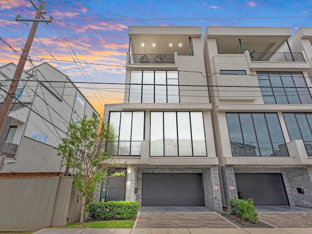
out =
[(94, 221), (80, 225), (78, 222), (67, 224), (65, 227), (56, 228), (133, 228), (135, 221), (133, 220), (109, 220)]

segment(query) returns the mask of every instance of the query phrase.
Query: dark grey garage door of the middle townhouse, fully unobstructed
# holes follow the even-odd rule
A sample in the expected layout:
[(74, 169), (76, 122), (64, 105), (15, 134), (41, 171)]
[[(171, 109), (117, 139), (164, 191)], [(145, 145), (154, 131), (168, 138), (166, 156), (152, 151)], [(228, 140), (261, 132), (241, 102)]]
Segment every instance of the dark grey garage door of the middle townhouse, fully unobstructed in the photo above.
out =
[(142, 206), (204, 206), (202, 174), (143, 174)]

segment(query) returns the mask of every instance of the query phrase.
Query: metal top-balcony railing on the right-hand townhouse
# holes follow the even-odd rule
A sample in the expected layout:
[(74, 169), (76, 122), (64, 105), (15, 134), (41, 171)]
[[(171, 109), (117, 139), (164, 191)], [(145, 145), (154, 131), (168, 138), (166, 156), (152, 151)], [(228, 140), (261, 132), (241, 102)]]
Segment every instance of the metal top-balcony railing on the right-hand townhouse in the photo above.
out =
[(252, 61), (305, 62), (302, 53), (249, 52)]

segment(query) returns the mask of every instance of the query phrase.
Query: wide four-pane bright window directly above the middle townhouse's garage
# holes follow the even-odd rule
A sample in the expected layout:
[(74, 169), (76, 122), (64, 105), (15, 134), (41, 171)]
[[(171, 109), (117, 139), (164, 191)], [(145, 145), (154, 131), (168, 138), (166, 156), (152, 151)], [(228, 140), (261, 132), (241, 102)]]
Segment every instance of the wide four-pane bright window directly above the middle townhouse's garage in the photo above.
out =
[(151, 156), (207, 156), (202, 112), (151, 112)]

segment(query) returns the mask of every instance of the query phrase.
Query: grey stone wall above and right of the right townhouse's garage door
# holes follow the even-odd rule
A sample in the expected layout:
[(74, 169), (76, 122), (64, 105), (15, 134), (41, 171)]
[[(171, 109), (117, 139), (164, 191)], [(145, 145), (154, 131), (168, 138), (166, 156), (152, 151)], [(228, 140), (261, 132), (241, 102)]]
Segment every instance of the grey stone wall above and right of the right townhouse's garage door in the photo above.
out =
[[(290, 206), (312, 207), (312, 166), (248, 166), (234, 167), (234, 173), (281, 173)], [(299, 194), (296, 188), (304, 188)]]

